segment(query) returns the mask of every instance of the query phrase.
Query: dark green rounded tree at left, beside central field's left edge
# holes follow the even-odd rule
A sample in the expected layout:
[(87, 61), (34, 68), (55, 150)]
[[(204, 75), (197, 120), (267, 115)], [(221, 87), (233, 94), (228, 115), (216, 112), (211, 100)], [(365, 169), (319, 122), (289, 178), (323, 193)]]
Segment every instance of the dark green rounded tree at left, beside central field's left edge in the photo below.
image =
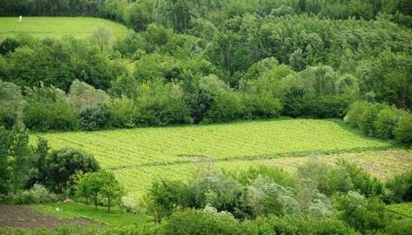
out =
[(54, 192), (61, 193), (65, 187), (73, 187), (69, 179), (79, 171), (83, 173), (99, 170), (94, 157), (81, 150), (63, 148), (51, 152), (45, 161), (46, 178), (40, 181)]

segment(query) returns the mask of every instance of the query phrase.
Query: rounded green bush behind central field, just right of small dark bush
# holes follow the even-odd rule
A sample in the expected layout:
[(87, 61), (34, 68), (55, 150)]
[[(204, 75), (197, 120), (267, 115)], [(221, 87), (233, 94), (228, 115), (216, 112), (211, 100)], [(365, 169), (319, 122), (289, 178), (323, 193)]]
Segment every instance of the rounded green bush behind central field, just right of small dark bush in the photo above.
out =
[(109, 124), (119, 128), (132, 128), (136, 121), (136, 107), (125, 97), (115, 99), (107, 105)]

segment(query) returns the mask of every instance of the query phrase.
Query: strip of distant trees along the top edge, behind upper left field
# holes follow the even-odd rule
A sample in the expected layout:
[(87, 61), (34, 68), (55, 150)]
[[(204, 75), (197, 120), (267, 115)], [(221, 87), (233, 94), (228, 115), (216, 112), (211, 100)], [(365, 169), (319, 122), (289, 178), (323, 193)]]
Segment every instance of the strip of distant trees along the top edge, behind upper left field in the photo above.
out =
[(378, 14), (391, 15), (393, 22), (412, 26), (408, 0), (0, 0), (1, 16), (89, 15), (124, 22), (135, 30), (158, 23), (177, 31), (191, 30), (199, 19), (223, 22), (245, 13), (259, 16), (317, 14), (330, 19), (371, 20)]

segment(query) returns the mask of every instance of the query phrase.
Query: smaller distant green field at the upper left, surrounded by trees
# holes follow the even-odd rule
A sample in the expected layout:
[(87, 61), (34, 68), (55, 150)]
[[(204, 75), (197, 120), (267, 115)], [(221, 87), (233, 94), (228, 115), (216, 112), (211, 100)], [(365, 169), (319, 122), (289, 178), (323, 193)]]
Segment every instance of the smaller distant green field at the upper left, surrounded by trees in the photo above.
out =
[(91, 17), (0, 17), (0, 40), (17, 35), (30, 34), (35, 37), (73, 36), (89, 38), (98, 27), (111, 30), (116, 38), (123, 37), (127, 28), (119, 23)]

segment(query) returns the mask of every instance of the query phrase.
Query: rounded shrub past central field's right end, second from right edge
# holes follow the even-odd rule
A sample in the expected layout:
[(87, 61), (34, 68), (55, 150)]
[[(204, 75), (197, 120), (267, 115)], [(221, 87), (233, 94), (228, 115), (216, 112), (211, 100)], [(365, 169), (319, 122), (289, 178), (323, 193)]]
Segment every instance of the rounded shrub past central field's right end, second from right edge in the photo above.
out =
[(394, 137), (395, 127), (399, 122), (399, 112), (396, 108), (385, 105), (378, 112), (373, 122), (374, 135), (381, 139)]

